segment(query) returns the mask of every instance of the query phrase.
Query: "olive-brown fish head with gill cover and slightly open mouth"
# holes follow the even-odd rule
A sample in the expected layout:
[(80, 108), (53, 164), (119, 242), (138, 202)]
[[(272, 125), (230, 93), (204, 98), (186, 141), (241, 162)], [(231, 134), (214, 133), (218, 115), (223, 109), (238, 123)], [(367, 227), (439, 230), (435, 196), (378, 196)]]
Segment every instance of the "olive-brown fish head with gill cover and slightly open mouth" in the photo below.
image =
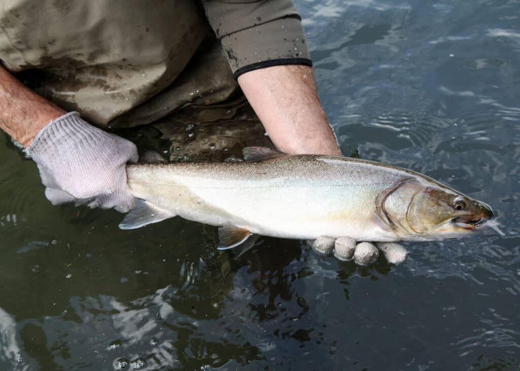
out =
[(382, 192), (378, 214), (404, 240), (452, 239), (474, 233), (491, 208), (435, 181), (407, 178)]

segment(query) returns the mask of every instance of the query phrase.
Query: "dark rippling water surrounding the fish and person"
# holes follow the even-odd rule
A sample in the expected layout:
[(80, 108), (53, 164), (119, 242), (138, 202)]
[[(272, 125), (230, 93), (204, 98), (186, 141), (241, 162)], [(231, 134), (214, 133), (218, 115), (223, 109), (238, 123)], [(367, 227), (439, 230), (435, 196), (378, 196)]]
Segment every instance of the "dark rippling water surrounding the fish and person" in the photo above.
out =
[(51, 206), (5, 137), (0, 369), (520, 367), (520, 2), (296, 5), (344, 153), (489, 203), (502, 233), (409, 243), (399, 267), (276, 239), (233, 260), (212, 227)]

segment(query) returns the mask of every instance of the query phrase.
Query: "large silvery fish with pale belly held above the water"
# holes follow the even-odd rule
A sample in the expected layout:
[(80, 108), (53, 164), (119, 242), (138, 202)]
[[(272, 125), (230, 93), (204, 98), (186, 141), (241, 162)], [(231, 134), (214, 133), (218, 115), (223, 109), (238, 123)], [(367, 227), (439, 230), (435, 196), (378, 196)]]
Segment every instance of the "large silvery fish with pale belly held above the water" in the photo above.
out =
[(412, 170), (359, 158), (288, 155), (246, 147), (243, 162), (126, 166), (135, 229), (179, 216), (217, 226), (219, 248), (253, 234), (358, 242), (432, 241), (472, 235), (489, 205)]

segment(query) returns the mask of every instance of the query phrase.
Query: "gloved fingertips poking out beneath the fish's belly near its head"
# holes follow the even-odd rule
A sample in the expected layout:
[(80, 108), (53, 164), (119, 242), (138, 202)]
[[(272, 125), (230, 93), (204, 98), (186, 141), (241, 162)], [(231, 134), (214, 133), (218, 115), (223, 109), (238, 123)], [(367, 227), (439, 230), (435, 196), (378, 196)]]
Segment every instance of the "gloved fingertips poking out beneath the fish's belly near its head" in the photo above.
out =
[(379, 251), (392, 264), (403, 263), (408, 258), (408, 251), (396, 243), (381, 242), (376, 243), (375, 246), (368, 242), (356, 244), (356, 241), (348, 236), (341, 236), (337, 239), (330, 236), (319, 236), (311, 247), (320, 255), (334, 254), (336, 259), (342, 261), (354, 259), (359, 266), (367, 266), (378, 260)]

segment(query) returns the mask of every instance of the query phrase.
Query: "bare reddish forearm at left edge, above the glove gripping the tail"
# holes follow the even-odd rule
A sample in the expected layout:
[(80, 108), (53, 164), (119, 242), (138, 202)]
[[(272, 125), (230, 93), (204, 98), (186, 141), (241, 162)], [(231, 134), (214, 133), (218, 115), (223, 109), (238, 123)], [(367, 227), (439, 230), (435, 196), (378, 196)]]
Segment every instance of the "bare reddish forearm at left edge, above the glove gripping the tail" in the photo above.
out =
[(66, 113), (38, 96), (0, 65), (0, 129), (27, 148), (38, 131)]

